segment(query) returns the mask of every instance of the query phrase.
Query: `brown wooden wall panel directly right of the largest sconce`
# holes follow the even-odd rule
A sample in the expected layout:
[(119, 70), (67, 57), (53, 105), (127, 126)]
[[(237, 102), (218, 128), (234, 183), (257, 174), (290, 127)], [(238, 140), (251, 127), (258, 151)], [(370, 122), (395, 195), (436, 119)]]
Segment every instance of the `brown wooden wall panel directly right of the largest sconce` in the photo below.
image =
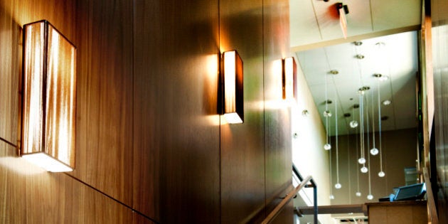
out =
[(78, 1), (76, 167), (132, 206), (132, 1)]

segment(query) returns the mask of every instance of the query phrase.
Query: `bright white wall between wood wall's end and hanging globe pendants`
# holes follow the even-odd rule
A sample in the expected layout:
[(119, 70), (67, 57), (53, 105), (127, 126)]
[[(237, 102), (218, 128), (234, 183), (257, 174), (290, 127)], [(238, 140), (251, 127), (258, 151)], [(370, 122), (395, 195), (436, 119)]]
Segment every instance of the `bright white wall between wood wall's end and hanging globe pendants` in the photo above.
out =
[[(292, 139), (292, 162), (303, 177), (311, 175), (316, 181), (318, 205), (329, 206), (329, 153), (323, 148), (326, 133), (299, 64), (296, 98), (297, 104), (293, 105), (291, 110), (292, 133), (297, 133), (297, 137)], [(302, 115), (303, 110), (308, 110), (309, 114)], [(312, 204), (312, 189), (306, 188), (305, 193), (306, 198), (311, 198)], [(319, 220), (321, 223), (331, 223), (329, 215), (319, 215)]]

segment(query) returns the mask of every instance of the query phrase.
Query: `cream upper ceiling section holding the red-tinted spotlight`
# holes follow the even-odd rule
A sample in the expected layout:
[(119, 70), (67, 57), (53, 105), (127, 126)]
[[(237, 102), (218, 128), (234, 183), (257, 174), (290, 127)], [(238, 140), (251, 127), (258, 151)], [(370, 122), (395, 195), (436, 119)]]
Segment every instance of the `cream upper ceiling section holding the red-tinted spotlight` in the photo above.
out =
[[(343, 38), (335, 1), (290, 0), (293, 49), (310, 49), (356, 39), (416, 30), (421, 0), (340, 1), (348, 6), (347, 39)], [(442, 17), (442, 16), (440, 16)]]

